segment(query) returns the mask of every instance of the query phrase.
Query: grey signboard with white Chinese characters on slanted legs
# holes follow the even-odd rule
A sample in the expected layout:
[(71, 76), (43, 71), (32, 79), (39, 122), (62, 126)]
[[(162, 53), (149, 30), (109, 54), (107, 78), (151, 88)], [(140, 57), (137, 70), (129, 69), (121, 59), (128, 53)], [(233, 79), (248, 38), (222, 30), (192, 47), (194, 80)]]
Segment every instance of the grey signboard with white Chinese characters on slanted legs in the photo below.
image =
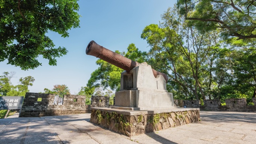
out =
[[(23, 99), (24, 96), (0, 96), (0, 110), (8, 110), (8, 114), (10, 110), (20, 109), (20, 115)], [(7, 117), (7, 114), (4, 118)]]

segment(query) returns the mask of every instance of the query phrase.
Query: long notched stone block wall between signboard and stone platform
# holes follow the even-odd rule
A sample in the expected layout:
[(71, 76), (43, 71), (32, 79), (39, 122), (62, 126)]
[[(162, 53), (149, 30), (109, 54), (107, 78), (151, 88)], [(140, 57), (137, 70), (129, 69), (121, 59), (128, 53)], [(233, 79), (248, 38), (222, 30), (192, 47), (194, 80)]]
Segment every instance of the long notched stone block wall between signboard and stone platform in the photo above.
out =
[(54, 98), (55, 95), (53, 94), (27, 92), (20, 117), (58, 116), (91, 112), (90, 105), (85, 104), (85, 96), (64, 95), (63, 105), (54, 105)]

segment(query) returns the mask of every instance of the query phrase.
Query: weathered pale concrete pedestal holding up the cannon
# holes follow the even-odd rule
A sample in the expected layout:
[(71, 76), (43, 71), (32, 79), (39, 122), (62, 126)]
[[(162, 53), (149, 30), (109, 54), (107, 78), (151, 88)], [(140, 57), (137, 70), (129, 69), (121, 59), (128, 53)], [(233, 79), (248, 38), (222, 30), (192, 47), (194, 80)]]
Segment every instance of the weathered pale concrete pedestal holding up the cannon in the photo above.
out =
[(167, 91), (166, 80), (162, 75), (155, 78), (146, 62), (122, 72), (120, 86), (120, 91), (115, 93), (115, 106), (140, 110), (174, 107), (173, 94)]

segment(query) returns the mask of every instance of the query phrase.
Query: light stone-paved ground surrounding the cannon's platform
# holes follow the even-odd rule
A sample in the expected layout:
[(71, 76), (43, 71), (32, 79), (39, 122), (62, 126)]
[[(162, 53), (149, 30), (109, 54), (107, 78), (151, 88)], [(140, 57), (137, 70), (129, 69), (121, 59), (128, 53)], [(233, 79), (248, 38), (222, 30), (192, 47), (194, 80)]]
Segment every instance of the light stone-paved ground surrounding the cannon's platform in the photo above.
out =
[(126, 137), (90, 114), (0, 119), (1, 144), (256, 144), (256, 113), (201, 111), (201, 122)]

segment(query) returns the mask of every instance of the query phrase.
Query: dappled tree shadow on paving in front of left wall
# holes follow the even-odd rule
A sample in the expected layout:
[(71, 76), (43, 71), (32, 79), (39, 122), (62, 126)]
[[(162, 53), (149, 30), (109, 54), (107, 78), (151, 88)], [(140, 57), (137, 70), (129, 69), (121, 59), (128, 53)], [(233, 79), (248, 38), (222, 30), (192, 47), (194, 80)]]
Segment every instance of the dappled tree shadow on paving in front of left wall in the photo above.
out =
[[(68, 122), (79, 123), (82, 121), (87, 122), (89, 118), (72, 119), (72, 117), (63, 116), (63, 119), (59, 119), (55, 116), (46, 116), (0, 119), (0, 140), (2, 144), (70, 143), (72, 138), (69, 138), (68, 135), (75, 135), (76, 133), (81, 135), (87, 134), (80, 132)], [(88, 129), (88, 131), (91, 131), (91, 129)], [(63, 141), (60, 139), (60, 136), (63, 137)]]

